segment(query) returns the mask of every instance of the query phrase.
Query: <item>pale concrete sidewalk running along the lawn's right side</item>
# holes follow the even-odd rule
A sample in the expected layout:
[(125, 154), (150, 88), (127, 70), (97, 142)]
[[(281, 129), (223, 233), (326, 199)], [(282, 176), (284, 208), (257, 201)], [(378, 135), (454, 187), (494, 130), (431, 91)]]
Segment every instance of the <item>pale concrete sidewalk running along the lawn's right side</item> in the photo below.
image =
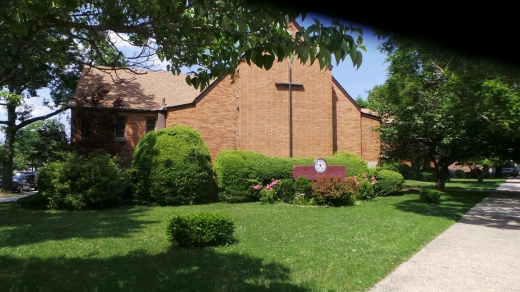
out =
[(370, 291), (520, 291), (520, 179), (508, 179)]

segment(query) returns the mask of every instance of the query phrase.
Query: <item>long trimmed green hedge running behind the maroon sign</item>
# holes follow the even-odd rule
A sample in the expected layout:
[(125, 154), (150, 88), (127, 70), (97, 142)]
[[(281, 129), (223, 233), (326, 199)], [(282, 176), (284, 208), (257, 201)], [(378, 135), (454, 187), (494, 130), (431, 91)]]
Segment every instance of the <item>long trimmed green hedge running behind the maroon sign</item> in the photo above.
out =
[[(295, 165), (312, 165), (315, 157), (279, 158), (263, 154), (226, 150), (214, 163), (218, 198), (223, 202), (249, 202), (260, 199), (255, 185), (266, 185), (276, 179), (292, 178)], [(347, 174), (361, 175), (367, 172), (366, 162), (353, 153), (340, 152), (325, 158), (329, 165), (345, 165)]]

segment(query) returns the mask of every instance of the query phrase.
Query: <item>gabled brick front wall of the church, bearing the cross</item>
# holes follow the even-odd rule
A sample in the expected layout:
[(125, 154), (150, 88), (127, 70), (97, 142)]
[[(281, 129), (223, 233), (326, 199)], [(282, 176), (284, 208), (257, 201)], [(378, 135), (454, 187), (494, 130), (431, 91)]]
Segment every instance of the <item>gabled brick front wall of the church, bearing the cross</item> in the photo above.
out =
[[(379, 162), (377, 117), (360, 108), (334, 80), (331, 71), (317, 64), (291, 64), (292, 156), (328, 156), (353, 152)], [(239, 66), (235, 83), (224, 78), (190, 106), (168, 109), (166, 126), (188, 125), (199, 131), (213, 158), (226, 149), (289, 157), (288, 61), (269, 71)]]

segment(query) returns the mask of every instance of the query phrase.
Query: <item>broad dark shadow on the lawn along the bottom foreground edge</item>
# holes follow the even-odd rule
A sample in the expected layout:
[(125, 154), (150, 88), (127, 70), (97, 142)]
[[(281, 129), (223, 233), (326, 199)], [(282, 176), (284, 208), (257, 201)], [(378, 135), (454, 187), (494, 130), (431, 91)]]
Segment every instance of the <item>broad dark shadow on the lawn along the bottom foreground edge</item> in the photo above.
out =
[(281, 264), (212, 249), (107, 259), (0, 257), (0, 283), (10, 291), (310, 291), (290, 276)]

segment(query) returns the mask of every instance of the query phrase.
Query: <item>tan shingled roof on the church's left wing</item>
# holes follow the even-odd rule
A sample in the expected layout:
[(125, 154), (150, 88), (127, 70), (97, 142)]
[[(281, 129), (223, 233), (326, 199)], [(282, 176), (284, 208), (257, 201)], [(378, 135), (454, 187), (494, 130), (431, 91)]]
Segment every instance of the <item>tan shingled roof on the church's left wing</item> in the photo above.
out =
[(170, 107), (190, 104), (201, 94), (185, 79), (185, 74), (174, 75), (168, 71), (85, 68), (74, 92), (74, 100), (90, 96), (95, 88), (103, 85), (109, 89), (107, 104), (120, 98), (121, 109), (161, 110), (163, 98), (166, 106)]

